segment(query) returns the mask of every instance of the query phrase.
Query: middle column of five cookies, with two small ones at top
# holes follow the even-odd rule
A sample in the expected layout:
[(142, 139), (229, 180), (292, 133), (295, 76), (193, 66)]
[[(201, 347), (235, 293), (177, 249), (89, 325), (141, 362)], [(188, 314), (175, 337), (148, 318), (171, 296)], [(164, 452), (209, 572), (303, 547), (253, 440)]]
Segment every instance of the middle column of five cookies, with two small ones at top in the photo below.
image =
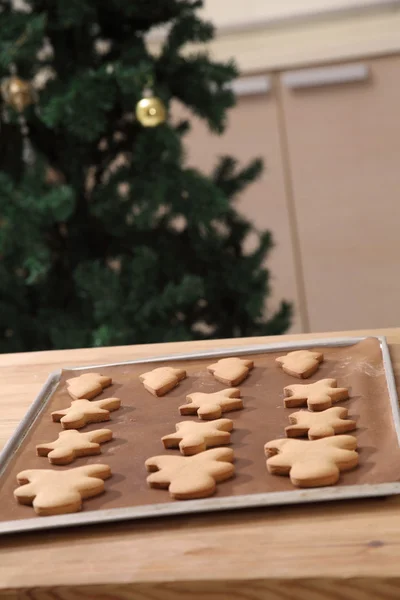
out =
[[(237, 385), (248, 376), (253, 366), (251, 360), (232, 357), (219, 360), (207, 370), (221, 383)], [(140, 379), (149, 392), (158, 396), (173, 389), (185, 377), (183, 369), (159, 367), (144, 373)], [(168, 489), (175, 500), (210, 496), (217, 483), (234, 475), (233, 450), (218, 447), (230, 443), (233, 421), (218, 417), (223, 412), (243, 408), (238, 388), (214, 393), (195, 392), (189, 394), (186, 400), (179, 407), (180, 414), (197, 414), (203, 422), (182, 421), (175, 425), (175, 433), (162, 438), (166, 449), (179, 448), (183, 456), (152, 456), (145, 462), (147, 471), (150, 471), (147, 477), (150, 487)]]

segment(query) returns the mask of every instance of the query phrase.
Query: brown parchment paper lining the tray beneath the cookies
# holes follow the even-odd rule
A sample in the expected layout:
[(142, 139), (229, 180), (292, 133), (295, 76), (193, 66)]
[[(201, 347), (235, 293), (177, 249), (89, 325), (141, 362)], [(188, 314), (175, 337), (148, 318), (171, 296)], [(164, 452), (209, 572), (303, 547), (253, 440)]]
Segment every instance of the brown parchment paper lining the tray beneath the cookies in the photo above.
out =
[[(354, 435), (358, 440), (360, 465), (354, 471), (344, 473), (338, 485), (398, 481), (400, 448), (392, 422), (379, 340), (367, 338), (353, 346), (330, 347), (323, 352), (324, 363), (306, 382), (334, 377), (339, 386), (349, 387), (351, 398), (338, 406), (348, 408), (349, 416), (357, 421)], [(254, 359), (255, 367), (239, 386), (244, 409), (223, 415), (234, 421), (231, 446), (235, 453), (236, 475), (230, 481), (218, 484), (218, 497), (295, 489), (289, 478), (267, 472), (263, 451), (267, 441), (284, 437), (284, 428), (289, 424), (288, 415), (298, 410), (284, 408), (284, 386), (302, 382), (276, 366), (275, 358), (281, 354), (246, 355)], [(24, 469), (64, 469), (100, 462), (110, 465), (113, 475), (106, 481), (106, 492), (85, 500), (84, 510), (177, 502), (170, 498), (167, 490), (148, 487), (144, 462), (150, 456), (179, 453), (179, 450), (164, 450), (161, 437), (175, 431), (175, 423), (197, 419), (196, 416), (183, 417), (179, 414), (178, 407), (184, 403), (187, 394), (215, 392), (227, 387), (215, 381), (206, 370), (207, 365), (215, 360), (182, 360), (101, 369), (102, 374), (112, 376), (113, 385), (96, 400), (117, 396), (122, 407), (111, 413), (110, 421), (88, 425), (82, 431), (107, 427), (112, 429), (114, 439), (102, 445), (100, 455), (79, 458), (66, 467), (57, 467), (50, 465), (47, 458), (36, 456), (35, 445), (55, 440), (61, 430), (60, 423), (52, 422), (50, 413), (70, 405), (65, 380), (80, 374), (79, 371), (64, 371), (50, 402), (2, 477), (0, 521), (35, 516), (31, 507), (21, 506), (13, 498), (13, 490), (17, 487), (16, 475)], [(156, 398), (143, 388), (138, 375), (162, 364), (184, 367), (188, 378), (166, 396)], [(92, 370), (99, 372), (99, 369)]]

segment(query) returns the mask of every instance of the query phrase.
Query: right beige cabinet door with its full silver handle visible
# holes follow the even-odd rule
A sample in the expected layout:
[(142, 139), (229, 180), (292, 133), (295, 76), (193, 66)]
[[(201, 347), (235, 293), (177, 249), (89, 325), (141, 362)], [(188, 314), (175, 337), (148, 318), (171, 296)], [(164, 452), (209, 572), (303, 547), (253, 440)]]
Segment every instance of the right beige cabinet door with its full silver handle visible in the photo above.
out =
[(342, 67), (281, 76), (311, 331), (400, 324), (400, 57)]

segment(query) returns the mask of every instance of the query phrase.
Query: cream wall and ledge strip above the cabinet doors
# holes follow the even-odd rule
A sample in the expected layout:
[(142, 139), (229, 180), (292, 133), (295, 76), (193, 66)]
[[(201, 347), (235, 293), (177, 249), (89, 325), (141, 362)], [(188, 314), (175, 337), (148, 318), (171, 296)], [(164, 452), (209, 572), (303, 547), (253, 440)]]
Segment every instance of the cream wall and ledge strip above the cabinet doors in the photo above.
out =
[[(207, 51), (216, 60), (234, 58), (244, 74), (400, 52), (400, 0), (299, 0), (298, 4), (295, 0), (265, 0), (257, 5), (266, 16), (253, 18), (255, 1), (209, 0), (206, 8), (211, 20), (220, 23)], [(311, 7), (315, 9), (317, 4), (320, 10), (315, 13)], [(346, 8), (340, 10), (344, 4)], [(224, 5), (229, 5), (229, 10), (223, 9)], [(298, 6), (297, 18), (289, 11), (290, 5)], [(251, 15), (246, 22), (240, 13), (243, 7), (249, 7)], [(278, 13), (281, 22), (277, 25), (278, 17), (274, 19), (273, 14)], [(163, 30), (150, 32), (151, 52), (159, 52), (163, 35)], [(198, 49), (186, 47), (188, 53)]]

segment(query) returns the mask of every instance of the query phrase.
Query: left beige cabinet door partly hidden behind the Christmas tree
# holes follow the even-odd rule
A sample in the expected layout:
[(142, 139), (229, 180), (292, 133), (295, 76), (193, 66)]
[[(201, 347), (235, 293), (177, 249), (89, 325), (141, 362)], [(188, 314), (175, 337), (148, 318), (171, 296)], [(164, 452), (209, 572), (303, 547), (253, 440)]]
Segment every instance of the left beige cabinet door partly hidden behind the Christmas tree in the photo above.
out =
[[(267, 300), (268, 310), (276, 308), (282, 299), (293, 302), (295, 315), (291, 331), (302, 331), (302, 306), (291, 243), (277, 98), (271, 77), (264, 77), (263, 93), (256, 93), (260, 83), (257, 79), (260, 80), (259, 77), (239, 80), (238, 90), (242, 95), (238, 96), (237, 105), (229, 113), (228, 126), (222, 136), (210, 133), (204, 123), (185, 113), (182, 107), (174, 107), (173, 114), (190, 118), (192, 130), (186, 138), (185, 148), (188, 163), (196, 168), (211, 172), (223, 154), (234, 156), (240, 164), (258, 156), (263, 158), (264, 173), (240, 194), (236, 207), (257, 229), (268, 229), (274, 237), (275, 247), (266, 260), (272, 288), (272, 295)], [(251, 247), (249, 239), (248, 248)]]

